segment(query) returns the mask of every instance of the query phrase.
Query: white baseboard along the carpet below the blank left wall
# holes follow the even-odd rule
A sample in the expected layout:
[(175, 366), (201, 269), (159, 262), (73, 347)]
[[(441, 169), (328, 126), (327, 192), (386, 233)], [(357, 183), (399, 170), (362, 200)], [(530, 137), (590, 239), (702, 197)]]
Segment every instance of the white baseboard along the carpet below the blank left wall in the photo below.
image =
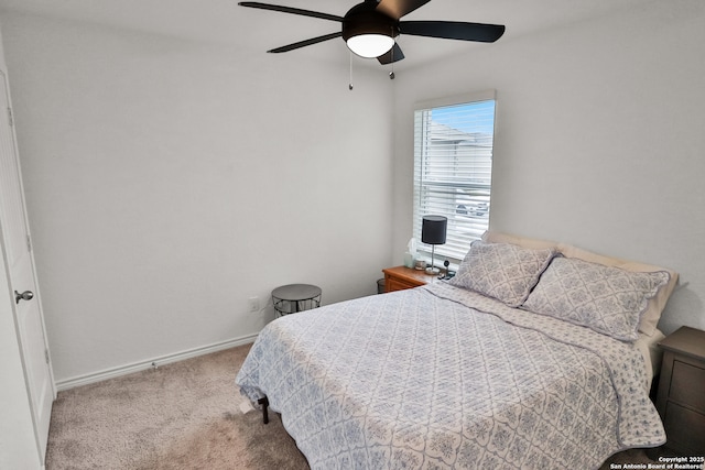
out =
[(224, 349), (235, 348), (236, 346), (248, 345), (254, 342), (257, 334), (246, 336), (242, 338), (235, 338), (223, 342), (217, 342), (209, 346), (203, 346), (200, 348), (189, 349), (187, 351), (176, 352), (173, 354), (161, 356), (159, 358), (147, 359), (140, 362), (131, 364), (120, 365), (118, 368), (106, 369), (105, 371), (94, 372), (86, 375), (79, 375), (66, 380), (56, 382), (56, 390), (58, 392), (74, 389), (80, 385), (88, 385), (89, 383), (101, 382), (104, 380), (113, 379), (121, 375), (131, 374), (133, 372), (151, 369), (154, 365), (164, 365), (171, 362), (178, 362), (185, 359), (196, 358), (198, 356), (208, 354), (210, 352), (221, 351)]

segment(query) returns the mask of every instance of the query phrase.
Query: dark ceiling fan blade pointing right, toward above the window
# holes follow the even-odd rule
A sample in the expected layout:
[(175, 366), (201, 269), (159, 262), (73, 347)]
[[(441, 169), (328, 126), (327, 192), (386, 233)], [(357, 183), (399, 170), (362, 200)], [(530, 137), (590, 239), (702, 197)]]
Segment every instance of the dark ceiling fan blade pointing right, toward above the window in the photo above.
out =
[(457, 21), (400, 21), (399, 31), (413, 36), (494, 43), (505, 34), (505, 26)]

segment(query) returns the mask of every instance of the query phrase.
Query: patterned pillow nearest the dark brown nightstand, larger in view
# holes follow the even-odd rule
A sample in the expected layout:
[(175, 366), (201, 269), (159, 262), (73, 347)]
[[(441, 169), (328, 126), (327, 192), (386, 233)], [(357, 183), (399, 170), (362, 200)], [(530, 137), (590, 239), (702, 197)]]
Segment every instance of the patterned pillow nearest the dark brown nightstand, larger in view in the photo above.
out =
[(555, 258), (522, 306), (622, 341), (638, 338), (648, 302), (669, 273), (637, 273), (574, 258)]

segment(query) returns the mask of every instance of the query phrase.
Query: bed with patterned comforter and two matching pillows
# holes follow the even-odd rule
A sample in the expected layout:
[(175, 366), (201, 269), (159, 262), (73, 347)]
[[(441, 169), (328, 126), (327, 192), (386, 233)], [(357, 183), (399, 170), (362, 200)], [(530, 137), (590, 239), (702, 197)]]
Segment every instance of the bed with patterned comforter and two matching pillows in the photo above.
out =
[(676, 275), (590, 256), (490, 234), (452, 282), (274, 320), (236, 383), (312, 469), (598, 468), (665, 441), (649, 387)]

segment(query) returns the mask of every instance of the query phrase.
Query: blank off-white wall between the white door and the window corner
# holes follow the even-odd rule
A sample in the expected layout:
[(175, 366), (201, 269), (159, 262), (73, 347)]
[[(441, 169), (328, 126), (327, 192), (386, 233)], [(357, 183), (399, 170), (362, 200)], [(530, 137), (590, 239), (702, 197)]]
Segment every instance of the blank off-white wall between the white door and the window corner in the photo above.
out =
[(295, 54), (1, 20), (59, 383), (257, 334), (282, 284), (376, 293), (384, 75), (357, 69), (350, 92), (347, 67)]

